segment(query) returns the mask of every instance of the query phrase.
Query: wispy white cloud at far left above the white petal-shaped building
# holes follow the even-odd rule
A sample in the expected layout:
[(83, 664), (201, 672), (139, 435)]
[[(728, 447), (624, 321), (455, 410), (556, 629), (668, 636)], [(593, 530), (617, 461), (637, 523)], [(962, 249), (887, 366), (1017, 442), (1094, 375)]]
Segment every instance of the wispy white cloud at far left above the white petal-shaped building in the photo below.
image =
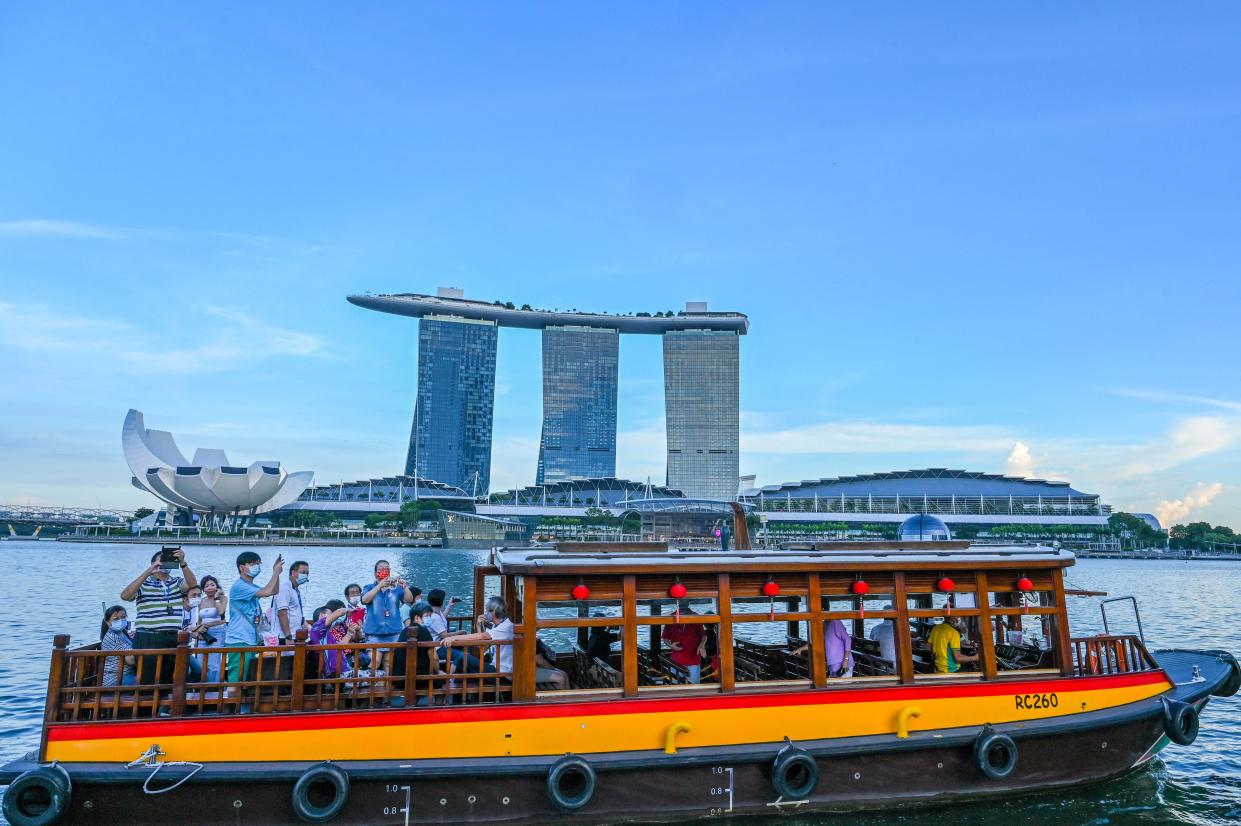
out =
[[(102, 360), (109, 368), (146, 371), (225, 371), (278, 357), (325, 357), (318, 336), (289, 330), (226, 308), (207, 306), (218, 320), (189, 347), (170, 347), (165, 339), (114, 319), (92, 319), (52, 308), (0, 301), (0, 347), (37, 352), (43, 358), (65, 353), (77, 366)], [(194, 339), (181, 325), (177, 341)]]

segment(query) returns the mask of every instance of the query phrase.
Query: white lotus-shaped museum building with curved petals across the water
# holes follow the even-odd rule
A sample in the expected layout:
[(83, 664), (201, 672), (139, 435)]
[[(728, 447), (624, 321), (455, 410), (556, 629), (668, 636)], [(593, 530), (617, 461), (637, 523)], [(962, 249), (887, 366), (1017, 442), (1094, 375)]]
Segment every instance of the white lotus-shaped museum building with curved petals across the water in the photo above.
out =
[(196, 512), (252, 515), (283, 507), (314, 481), (309, 470), (285, 473), (278, 461), (238, 466), (223, 450), (199, 448), (186, 460), (168, 430), (148, 430), (143, 414), (129, 411), (120, 430), (135, 487), (174, 507)]

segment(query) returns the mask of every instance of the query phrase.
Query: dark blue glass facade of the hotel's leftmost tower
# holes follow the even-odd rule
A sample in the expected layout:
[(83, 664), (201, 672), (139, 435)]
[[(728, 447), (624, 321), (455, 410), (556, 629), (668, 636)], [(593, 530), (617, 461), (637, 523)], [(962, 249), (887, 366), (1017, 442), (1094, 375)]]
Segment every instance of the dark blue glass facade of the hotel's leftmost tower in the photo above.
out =
[(493, 321), (418, 321), (418, 398), (405, 473), (485, 494), (491, 480), (495, 404)]

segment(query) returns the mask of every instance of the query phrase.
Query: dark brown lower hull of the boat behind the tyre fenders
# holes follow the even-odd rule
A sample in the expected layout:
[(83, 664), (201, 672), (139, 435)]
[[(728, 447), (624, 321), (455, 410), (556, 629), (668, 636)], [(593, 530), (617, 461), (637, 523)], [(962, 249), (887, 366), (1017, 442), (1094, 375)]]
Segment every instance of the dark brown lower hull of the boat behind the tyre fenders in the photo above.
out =
[[(689, 820), (710, 816), (776, 814), (778, 811), (858, 810), (917, 805), (961, 797), (1011, 795), (1104, 780), (1149, 760), (1164, 740), (1162, 717), (1144, 716), (1088, 731), (1034, 733), (1015, 737), (1019, 759), (1001, 780), (978, 768), (972, 740), (918, 744), (853, 754), (815, 755), (819, 783), (802, 800), (782, 799), (772, 784), (767, 754), (732, 759), (666, 763), (654, 758), (645, 768), (599, 765), (594, 794), (576, 812), (557, 809), (547, 794), (546, 773), (442, 776), (416, 769), (354, 773), (347, 802), (334, 824), (424, 822), (580, 822)], [(663, 757), (663, 755), (661, 755)], [(663, 763), (663, 765), (660, 765)], [(191, 779), (169, 794), (141, 789), (150, 770), (133, 770), (120, 783), (74, 781), (65, 824), (184, 824), (192, 812), (199, 826), (208, 824), (298, 824), (293, 811), (293, 780), (269, 781)], [(170, 768), (150, 784), (159, 789), (184, 776)], [(238, 773), (236, 776), (242, 776)]]

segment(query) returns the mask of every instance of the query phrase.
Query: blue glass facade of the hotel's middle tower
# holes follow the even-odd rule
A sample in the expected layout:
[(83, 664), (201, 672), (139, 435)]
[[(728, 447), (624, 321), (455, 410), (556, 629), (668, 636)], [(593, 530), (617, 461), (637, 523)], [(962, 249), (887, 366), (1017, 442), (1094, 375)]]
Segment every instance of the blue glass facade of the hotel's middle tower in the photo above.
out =
[(614, 476), (620, 334), (545, 327), (544, 424), (535, 484)]

